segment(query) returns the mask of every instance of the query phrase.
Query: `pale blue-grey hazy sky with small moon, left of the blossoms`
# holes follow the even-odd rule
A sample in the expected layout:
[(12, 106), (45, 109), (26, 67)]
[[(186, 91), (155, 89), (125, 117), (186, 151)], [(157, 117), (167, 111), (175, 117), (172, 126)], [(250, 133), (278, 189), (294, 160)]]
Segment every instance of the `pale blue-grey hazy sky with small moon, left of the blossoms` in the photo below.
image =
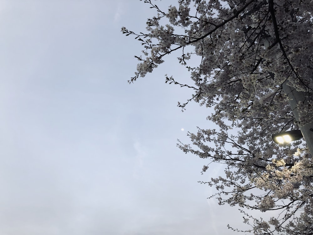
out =
[[(176, 1), (162, 1), (167, 8)], [(177, 139), (213, 128), (171, 55), (134, 84), (153, 10), (139, 0), (0, 0), (0, 234), (229, 234), (206, 160)], [(189, 81), (190, 83), (191, 81)], [(182, 130), (183, 129), (183, 130)]]

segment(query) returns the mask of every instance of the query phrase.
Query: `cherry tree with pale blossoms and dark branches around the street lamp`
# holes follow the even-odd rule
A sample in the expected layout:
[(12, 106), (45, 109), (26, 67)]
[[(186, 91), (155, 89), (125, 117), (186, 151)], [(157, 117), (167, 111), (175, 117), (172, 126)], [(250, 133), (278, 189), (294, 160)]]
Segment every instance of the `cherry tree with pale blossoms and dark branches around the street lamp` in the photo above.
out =
[[(172, 76), (165, 82), (194, 92), (178, 103), (182, 110), (191, 100), (213, 107), (208, 120), (218, 129), (198, 128), (198, 133), (188, 133), (192, 145), (178, 146), (208, 164), (225, 164), (225, 175), (202, 182), (216, 187), (212, 197), (219, 204), (243, 207), (244, 222), (254, 234), (313, 234), (312, 156), (303, 140), (279, 146), (271, 139), (273, 133), (313, 121), (313, 1), (179, 0), (167, 11), (152, 0), (143, 2), (157, 13), (147, 20), (147, 32), (122, 28), (141, 41), (146, 56), (135, 56), (140, 62), (129, 82), (180, 51), (178, 62), (193, 84)], [(194, 57), (201, 59), (196, 67), (188, 64)], [(305, 92), (298, 120), (284, 85)], [(256, 219), (250, 209), (277, 216)]]

